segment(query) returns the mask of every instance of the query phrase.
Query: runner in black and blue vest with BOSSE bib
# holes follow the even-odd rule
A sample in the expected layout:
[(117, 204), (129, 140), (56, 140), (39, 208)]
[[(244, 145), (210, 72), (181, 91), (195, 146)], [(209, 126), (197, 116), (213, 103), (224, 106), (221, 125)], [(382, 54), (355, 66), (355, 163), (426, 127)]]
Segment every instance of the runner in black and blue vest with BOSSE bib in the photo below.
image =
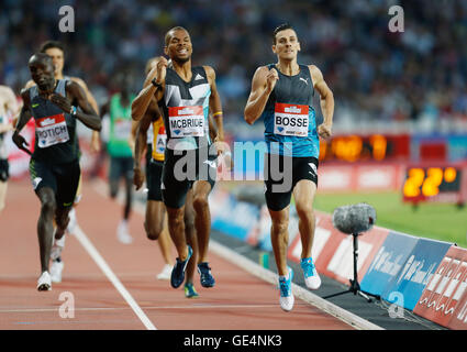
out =
[[(245, 107), (245, 120), (253, 124), (263, 119), (265, 123), (265, 140), (268, 145), (264, 169), (265, 196), (273, 222), (270, 235), (279, 273), (280, 307), (289, 311), (293, 308), (293, 272), (287, 266), (292, 193), (299, 216), (304, 280), (310, 289), (318, 289), (321, 285), (311, 258), (315, 224), (313, 199), (318, 185), (319, 135), (324, 139), (331, 135), (334, 97), (316, 66), (297, 63), (300, 43), (289, 24), (278, 26), (273, 37), (273, 52), (278, 62), (260, 66), (255, 72)], [(321, 96), (324, 117), (324, 122), (318, 129), (312, 106), (314, 90)], [(287, 180), (271, 177), (278, 174), (274, 165), (280, 165), (285, 177), (289, 178), (290, 187), (286, 191), (275, 190)], [(291, 169), (286, 165), (290, 165)]]

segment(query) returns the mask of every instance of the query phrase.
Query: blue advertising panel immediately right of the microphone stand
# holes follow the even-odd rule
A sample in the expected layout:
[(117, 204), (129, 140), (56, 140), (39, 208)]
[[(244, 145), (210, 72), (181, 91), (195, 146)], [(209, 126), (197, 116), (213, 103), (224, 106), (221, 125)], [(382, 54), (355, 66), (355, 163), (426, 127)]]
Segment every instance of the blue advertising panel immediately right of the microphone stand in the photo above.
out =
[(391, 231), (375, 255), (360, 283), (363, 292), (382, 296), (415, 248), (419, 238)]

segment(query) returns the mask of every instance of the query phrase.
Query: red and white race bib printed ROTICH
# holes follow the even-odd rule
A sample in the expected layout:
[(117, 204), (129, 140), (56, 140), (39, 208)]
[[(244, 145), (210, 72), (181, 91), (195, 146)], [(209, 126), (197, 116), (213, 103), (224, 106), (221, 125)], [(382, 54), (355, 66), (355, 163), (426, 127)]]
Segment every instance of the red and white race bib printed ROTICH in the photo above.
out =
[(38, 147), (47, 147), (69, 141), (68, 128), (63, 113), (35, 120)]

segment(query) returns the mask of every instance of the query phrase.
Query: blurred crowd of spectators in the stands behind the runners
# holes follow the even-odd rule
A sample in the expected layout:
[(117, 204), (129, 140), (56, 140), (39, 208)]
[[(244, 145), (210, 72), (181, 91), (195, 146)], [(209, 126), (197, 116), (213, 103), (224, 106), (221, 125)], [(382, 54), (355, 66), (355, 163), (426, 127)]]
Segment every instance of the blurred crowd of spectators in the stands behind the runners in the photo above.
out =
[[(58, 29), (65, 4), (75, 10), (74, 33)], [(396, 4), (404, 11), (401, 33), (388, 30)], [(19, 92), (40, 43), (59, 40), (64, 72), (84, 78), (99, 102), (122, 70), (137, 92), (146, 61), (162, 55), (165, 33), (181, 25), (193, 64), (216, 70), (225, 120), (237, 123), (256, 67), (276, 59), (271, 32), (283, 22), (297, 30), (299, 62), (318, 65), (333, 90), (336, 124), (467, 124), (465, 0), (2, 0), (0, 84)]]

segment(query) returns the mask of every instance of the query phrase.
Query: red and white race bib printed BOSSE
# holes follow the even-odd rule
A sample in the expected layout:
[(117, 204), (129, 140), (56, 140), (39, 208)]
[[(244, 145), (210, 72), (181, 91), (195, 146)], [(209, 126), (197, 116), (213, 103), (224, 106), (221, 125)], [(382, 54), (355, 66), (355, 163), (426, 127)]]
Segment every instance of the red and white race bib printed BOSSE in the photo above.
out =
[(280, 135), (308, 135), (309, 106), (276, 102), (274, 109), (274, 133)]

